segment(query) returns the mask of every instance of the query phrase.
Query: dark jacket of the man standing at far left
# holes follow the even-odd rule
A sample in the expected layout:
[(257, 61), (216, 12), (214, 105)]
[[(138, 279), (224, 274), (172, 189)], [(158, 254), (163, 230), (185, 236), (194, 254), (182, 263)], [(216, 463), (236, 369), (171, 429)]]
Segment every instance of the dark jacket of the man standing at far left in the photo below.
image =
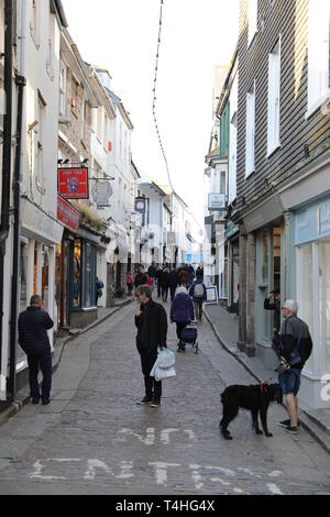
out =
[(19, 343), (28, 355), (41, 354), (51, 351), (47, 330), (52, 329), (54, 321), (48, 312), (38, 307), (28, 307), (19, 317)]

